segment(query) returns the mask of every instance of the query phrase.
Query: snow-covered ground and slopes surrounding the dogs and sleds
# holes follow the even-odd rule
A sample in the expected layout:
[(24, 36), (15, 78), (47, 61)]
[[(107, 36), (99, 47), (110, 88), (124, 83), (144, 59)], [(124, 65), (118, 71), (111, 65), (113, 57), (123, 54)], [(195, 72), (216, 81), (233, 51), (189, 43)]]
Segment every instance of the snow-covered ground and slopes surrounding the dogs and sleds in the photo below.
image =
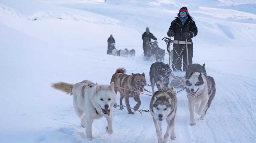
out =
[[(185, 91), (177, 94), (177, 138), (169, 142), (256, 142), (255, 4), (253, 0), (0, 0), (0, 142), (157, 142), (150, 113), (128, 115), (118, 109), (114, 109), (114, 133), (106, 133), (102, 118), (94, 122), (95, 139), (89, 141), (75, 115), (73, 98), (50, 84), (85, 79), (108, 84), (118, 67), (125, 67), (128, 74), (145, 72), (149, 83), (153, 62), (141, 59), (141, 35), (149, 27), (164, 49), (160, 39), (184, 5), (198, 27), (193, 62), (206, 63), (217, 92), (205, 120), (195, 126), (189, 126)], [(110, 34), (117, 49), (135, 49), (136, 57), (107, 55)], [(141, 94), (141, 109), (149, 108), (150, 99)], [(135, 104), (133, 99), (130, 104)]]

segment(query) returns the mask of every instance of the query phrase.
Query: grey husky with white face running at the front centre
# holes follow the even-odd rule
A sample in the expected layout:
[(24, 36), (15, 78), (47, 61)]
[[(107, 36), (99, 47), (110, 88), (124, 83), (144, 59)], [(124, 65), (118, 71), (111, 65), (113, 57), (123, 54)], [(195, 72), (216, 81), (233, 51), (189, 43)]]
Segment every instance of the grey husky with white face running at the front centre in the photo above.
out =
[[(153, 94), (150, 102), (150, 113), (153, 116), (153, 122), (156, 128), (158, 143), (167, 143), (171, 136), (174, 140), (174, 123), (176, 120), (177, 97), (173, 88), (163, 87)], [(166, 119), (167, 130), (162, 138), (162, 120)]]

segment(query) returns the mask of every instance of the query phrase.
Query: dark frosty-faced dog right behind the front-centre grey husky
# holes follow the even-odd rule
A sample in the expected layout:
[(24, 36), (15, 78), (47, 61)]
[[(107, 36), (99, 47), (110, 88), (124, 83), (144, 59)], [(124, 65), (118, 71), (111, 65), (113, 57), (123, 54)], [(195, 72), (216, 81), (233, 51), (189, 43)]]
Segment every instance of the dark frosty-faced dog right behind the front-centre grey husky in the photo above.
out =
[(172, 70), (168, 64), (162, 62), (153, 63), (150, 67), (149, 78), (153, 93), (155, 92), (154, 86), (157, 85), (159, 90), (160, 86), (167, 86), (169, 84), (170, 74)]

